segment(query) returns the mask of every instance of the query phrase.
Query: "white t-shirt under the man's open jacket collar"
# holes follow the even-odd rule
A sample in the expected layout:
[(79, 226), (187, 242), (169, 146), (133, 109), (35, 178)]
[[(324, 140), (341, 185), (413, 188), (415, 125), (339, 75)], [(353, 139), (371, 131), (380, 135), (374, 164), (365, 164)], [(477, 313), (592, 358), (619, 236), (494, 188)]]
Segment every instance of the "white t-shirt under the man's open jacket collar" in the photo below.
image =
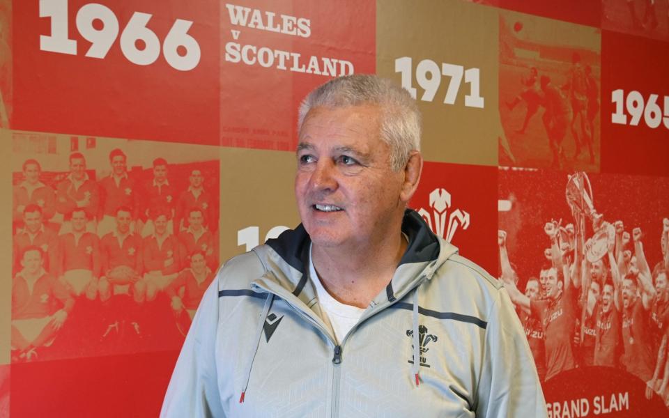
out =
[(327, 317), (323, 318), (323, 321), (325, 323), (328, 323), (328, 320), (330, 321), (334, 337), (337, 339), (337, 343), (341, 343), (344, 340), (344, 336), (360, 320), (360, 316), (362, 316), (365, 309), (341, 303), (325, 290), (321, 279), (318, 277), (318, 273), (316, 273), (316, 268), (314, 268), (311, 247), (309, 247), (309, 278), (311, 278), (316, 288), (316, 297), (318, 297), (318, 303), (321, 304), (323, 316)]

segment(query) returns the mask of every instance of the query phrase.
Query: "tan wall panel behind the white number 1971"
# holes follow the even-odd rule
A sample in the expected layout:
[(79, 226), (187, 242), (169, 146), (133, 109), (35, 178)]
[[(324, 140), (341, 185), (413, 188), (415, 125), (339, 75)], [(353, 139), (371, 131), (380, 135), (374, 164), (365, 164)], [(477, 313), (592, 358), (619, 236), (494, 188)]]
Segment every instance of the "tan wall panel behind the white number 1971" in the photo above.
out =
[[(422, 150), (426, 160), (496, 165), (498, 113), (498, 18), (493, 8), (462, 1), (378, 1), (376, 52), (378, 75), (402, 81), (396, 59), (411, 57), (411, 85), (423, 113)], [(451, 77), (440, 75), (422, 88), (424, 60), (479, 68), (483, 108), (466, 106), (472, 84), (463, 75), (454, 104), (445, 104)], [(401, 64), (399, 64), (401, 66)], [(423, 68), (426, 68), (423, 64)], [(434, 65), (431, 65), (434, 68)], [(404, 76), (406, 77), (406, 75)], [(426, 77), (429, 77), (426, 76)], [(438, 84), (431, 101), (422, 100), (429, 86)]]

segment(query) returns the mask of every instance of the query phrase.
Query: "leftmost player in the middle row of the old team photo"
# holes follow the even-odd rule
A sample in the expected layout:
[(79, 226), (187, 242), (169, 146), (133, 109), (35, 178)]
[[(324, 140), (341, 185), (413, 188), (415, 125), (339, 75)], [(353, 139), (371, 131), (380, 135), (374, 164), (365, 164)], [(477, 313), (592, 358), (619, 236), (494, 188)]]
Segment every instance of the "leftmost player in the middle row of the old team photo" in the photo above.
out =
[(55, 277), (58, 277), (58, 235), (51, 229), (45, 228), (42, 207), (29, 203), (23, 210), (24, 228), (13, 238), (14, 272), (19, 272), (21, 256), (27, 247), (40, 247), (43, 251), (43, 267)]

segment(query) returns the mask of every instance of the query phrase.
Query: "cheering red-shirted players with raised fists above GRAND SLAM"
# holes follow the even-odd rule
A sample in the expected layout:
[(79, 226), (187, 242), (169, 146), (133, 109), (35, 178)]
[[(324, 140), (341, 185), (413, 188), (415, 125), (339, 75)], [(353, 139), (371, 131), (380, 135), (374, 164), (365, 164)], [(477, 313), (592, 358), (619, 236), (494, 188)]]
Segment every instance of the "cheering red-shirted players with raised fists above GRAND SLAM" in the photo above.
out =
[[(606, 226), (601, 215), (592, 222), (594, 231)], [(634, 228), (630, 234), (617, 221), (609, 225), (608, 238), (594, 233), (598, 244), (597, 238), (586, 240), (584, 226), (582, 219), (545, 225), (550, 249), (539, 277), (526, 281), (525, 293), (518, 290), (509, 261), (507, 234), (498, 234), (501, 279), (541, 381), (579, 366), (617, 367), (647, 383), (647, 398), (655, 393), (669, 406), (669, 219), (660, 228), (662, 259), (654, 265), (647, 261), (643, 240), (655, 232)], [(599, 259), (591, 251), (597, 245)]]

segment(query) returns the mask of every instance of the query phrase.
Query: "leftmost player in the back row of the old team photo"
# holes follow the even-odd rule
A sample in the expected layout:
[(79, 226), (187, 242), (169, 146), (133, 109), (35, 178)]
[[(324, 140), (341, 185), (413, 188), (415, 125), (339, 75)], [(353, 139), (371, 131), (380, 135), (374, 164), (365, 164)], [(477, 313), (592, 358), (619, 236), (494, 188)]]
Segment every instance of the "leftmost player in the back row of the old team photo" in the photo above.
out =
[(15, 185), (12, 193), (13, 218), (20, 224), (26, 206), (34, 204), (42, 210), (44, 222), (48, 222), (56, 213), (56, 194), (54, 189), (40, 181), (42, 167), (32, 158), (23, 163), (24, 180)]

